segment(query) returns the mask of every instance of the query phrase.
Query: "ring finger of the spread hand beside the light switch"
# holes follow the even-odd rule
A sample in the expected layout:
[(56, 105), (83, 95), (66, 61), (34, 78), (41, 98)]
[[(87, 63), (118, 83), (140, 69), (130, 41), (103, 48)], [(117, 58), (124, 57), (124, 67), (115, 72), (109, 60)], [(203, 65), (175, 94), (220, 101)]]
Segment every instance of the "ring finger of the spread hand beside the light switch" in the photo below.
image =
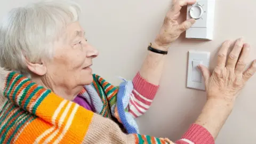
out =
[(238, 59), (238, 61), (236, 63), (236, 69), (235, 69), (236, 74), (242, 74), (243, 73), (244, 68), (246, 66), (246, 59), (249, 55), (249, 52), (250, 52), (250, 45), (249, 44), (244, 44), (242, 54), (241, 54), (240, 58)]

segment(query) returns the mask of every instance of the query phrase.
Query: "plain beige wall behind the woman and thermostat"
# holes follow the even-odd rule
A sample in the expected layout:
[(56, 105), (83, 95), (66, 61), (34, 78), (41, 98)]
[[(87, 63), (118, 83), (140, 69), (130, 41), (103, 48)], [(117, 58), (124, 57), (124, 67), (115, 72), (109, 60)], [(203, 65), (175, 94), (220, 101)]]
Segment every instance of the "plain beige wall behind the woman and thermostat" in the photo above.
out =
[[(32, 0), (1, 0), (0, 17), (28, 1)], [(94, 60), (94, 72), (113, 84), (119, 83), (116, 76), (131, 79), (146, 56), (148, 43), (162, 25), (170, 0), (76, 1), (83, 7), (81, 20), (86, 36), (100, 50), (100, 56)], [(205, 92), (186, 89), (188, 50), (210, 51), (213, 67), (220, 44), (225, 39), (244, 36), (253, 48), (251, 58), (256, 59), (256, 1), (216, 1), (214, 40), (188, 40), (182, 35), (172, 44), (156, 99), (148, 113), (138, 119), (141, 133), (178, 139), (200, 113)], [(216, 143), (256, 143), (255, 83), (256, 76), (237, 99)]]

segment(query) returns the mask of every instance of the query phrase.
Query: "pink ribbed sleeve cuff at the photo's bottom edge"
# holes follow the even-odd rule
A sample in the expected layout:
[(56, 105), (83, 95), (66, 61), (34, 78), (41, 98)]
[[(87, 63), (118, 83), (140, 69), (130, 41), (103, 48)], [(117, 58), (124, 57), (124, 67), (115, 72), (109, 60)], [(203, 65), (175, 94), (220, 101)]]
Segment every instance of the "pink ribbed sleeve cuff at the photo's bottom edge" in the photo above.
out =
[(214, 144), (214, 139), (209, 131), (203, 126), (192, 124), (182, 139), (176, 141), (177, 144), (187, 144), (189, 141), (196, 144)]

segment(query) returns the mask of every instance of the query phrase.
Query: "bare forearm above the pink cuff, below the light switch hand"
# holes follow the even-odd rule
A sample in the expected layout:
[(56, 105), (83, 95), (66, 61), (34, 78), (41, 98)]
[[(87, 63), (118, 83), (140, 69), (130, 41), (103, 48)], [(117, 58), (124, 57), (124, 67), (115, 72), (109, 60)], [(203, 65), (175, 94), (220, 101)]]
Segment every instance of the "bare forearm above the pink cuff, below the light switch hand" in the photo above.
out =
[(232, 102), (215, 99), (207, 100), (201, 115), (199, 115), (195, 123), (205, 127), (212, 134), (212, 137), (216, 139), (232, 108)]

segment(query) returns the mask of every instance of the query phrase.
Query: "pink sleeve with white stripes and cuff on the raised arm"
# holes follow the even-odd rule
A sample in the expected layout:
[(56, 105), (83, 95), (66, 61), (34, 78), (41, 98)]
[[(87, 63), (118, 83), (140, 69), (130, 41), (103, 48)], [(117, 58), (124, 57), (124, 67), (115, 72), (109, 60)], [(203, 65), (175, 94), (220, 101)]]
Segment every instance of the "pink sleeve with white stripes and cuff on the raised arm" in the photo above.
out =
[(129, 101), (129, 113), (133, 117), (139, 117), (149, 109), (159, 86), (147, 82), (139, 73), (133, 78), (132, 83), (133, 91)]

